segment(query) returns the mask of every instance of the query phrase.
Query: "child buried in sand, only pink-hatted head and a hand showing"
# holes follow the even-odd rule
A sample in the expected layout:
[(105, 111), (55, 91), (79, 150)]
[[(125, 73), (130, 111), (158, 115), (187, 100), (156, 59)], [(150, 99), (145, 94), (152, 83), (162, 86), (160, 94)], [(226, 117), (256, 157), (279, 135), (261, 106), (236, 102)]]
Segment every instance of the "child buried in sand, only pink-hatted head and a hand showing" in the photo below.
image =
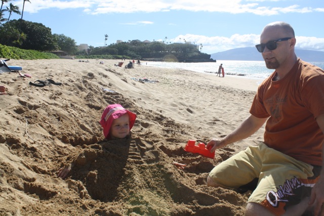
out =
[[(100, 124), (107, 140), (125, 139), (135, 123), (136, 114), (125, 109), (120, 104), (111, 104), (102, 113)], [(71, 170), (71, 164), (61, 167), (57, 177), (64, 179)]]

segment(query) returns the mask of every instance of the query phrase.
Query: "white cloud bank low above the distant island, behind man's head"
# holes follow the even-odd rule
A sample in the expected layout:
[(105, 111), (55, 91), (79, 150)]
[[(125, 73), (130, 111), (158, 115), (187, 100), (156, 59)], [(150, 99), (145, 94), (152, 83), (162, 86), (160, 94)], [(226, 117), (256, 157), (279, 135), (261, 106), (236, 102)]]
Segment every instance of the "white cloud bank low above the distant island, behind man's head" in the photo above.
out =
[[(171, 42), (191, 42), (195, 45), (203, 45), (202, 52), (217, 53), (235, 48), (254, 47), (260, 42), (258, 34), (233, 34), (230, 37), (185, 34), (171, 38)], [(324, 38), (296, 36), (296, 49), (324, 51)]]

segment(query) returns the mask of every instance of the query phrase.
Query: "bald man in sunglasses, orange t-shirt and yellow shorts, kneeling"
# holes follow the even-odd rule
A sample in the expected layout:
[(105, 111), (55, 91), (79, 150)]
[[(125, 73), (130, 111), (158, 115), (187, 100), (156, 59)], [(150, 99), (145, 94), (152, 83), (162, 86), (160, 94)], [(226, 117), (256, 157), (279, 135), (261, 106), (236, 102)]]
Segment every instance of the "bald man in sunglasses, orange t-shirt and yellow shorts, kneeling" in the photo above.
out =
[(295, 54), (293, 28), (266, 25), (256, 48), (275, 71), (259, 86), (250, 116), (211, 152), (248, 138), (265, 122), (264, 142), (250, 146), (210, 172), (208, 186), (247, 189), (246, 215), (324, 215), (324, 71)]

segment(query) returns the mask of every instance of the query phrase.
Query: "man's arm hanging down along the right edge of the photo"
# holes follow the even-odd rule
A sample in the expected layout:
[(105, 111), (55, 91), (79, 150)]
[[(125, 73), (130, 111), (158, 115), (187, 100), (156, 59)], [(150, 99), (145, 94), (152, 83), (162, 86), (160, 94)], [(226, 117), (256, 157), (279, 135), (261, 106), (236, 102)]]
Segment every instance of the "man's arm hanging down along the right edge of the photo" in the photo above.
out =
[[(316, 118), (317, 124), (324, 134), (324, 114)], [(322, 146), (322, 157), (324, 155), (324, 145)], [(314, 215), (324, 215), (324, 160), (322, 161), (322, 169), (319, 180), (312, 189), (309, 205), (315, 204)]]

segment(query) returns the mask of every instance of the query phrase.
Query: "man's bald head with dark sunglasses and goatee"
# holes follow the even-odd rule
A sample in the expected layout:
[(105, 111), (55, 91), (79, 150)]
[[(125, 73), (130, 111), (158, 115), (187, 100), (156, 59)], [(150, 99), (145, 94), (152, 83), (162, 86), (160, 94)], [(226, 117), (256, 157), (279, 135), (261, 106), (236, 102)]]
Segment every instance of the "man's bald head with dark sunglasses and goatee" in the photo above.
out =
[(292, 63), (295, 55), (295, 32), (285, 22), (273, 22), (266, 25), (260, 36), (260, 44), (256, 48), (269, 69), (278, 69)]

